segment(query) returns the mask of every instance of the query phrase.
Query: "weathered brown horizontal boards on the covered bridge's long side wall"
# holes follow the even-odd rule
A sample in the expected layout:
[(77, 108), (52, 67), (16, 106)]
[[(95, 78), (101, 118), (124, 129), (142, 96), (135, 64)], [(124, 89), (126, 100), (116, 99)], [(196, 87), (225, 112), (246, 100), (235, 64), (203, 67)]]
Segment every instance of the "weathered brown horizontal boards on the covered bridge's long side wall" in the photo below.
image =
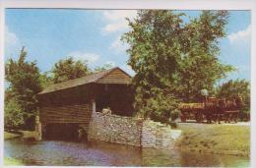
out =
[(92, 117), (91, 104), (77, 104), (64, 106), (42, 106), (40, 122), (47, 123), (77, 123), (89, 126)]

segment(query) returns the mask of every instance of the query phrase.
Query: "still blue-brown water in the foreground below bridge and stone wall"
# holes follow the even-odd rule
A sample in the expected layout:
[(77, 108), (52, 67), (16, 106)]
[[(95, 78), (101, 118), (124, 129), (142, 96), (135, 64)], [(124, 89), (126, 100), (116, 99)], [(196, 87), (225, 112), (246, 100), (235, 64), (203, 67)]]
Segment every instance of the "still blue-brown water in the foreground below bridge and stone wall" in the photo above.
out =
[(211, 166), (248, 167), (249, 158), (240, 156), (157, 150), (102, 141), (5, 140), (5, 157), (25, 165), (52, 166)]

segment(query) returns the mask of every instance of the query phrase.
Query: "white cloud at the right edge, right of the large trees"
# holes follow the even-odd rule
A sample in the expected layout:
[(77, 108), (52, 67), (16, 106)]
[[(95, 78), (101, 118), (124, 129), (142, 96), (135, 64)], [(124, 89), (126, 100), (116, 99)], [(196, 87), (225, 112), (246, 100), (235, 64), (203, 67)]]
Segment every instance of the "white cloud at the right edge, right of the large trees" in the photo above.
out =
[(251, 25), (243, 30), (239, 30), (237, 32), (231, 33), (228, 36), (230, 43), (250, 43), (251, 39)]

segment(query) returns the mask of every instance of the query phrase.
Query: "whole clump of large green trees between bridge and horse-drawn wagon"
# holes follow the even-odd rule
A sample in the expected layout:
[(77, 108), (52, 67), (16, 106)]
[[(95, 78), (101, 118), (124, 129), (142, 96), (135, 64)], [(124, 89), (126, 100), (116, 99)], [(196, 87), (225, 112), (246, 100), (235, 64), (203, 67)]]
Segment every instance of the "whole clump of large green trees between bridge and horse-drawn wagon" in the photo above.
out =
[[(198, 100), (200, 90), (213, 89), (217, 80), (232, 70), (218, 59), (218, 40), (224, 37), (227, 13), (204, 11), (184, 24), (185, 14), (166, 10), (141, 10), (131, 28), (122, 36), (130, 48), (128, 64), (135, 71), (135, 109), (143, 116), (149, 112), (166, 113), (152, 107), (158, 94), (177, 102)], [(167, 91), (167, 92), (166, 92)], [(154, 109), (154, 110), (151, 110)]]

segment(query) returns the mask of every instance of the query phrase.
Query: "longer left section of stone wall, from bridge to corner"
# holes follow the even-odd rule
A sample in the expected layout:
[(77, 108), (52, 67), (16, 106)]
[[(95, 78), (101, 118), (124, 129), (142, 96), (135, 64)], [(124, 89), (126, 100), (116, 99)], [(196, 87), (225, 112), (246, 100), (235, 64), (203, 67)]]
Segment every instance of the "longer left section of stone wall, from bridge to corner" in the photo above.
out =
[(95, 112), (89, 127), (89, 140), (141, 145), (142, 120)]

